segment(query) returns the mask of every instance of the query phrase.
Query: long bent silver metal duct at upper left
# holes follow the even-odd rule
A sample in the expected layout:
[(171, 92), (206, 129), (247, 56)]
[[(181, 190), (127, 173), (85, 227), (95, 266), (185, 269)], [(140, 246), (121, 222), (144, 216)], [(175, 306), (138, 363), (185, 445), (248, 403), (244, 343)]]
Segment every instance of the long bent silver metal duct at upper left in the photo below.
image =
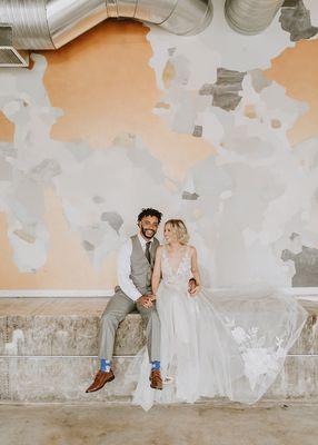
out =
[(1, 23), (16, 49), (57, 49), (107, 18), (156, 23), (177, 34), (202, 31), (211, 0), (0, 0)]

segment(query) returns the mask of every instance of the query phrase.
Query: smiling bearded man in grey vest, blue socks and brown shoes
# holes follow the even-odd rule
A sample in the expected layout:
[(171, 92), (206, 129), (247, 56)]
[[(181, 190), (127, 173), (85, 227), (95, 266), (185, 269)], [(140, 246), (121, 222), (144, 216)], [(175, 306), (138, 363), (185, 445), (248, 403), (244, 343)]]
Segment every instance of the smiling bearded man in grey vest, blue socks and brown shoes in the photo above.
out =
[(146, 324), (147, 347), (151, 362), (150, 386), (162, 389), (160, 374), (160, 320), (152, 301), (151, 275), (156, 250), (159, 246), (155, 238), (161, 221), (161, 214), (152, 208), (143, 209), (138, 216), (139, 233), (132, 236), (120, 249), (118, 256), (119, 286), (107, 305), (100, 326), (99, 359), (100, 368), (93, 383), (86, 390), (101, 389), (115, 379), (111, 358), (116, 330), (127, 314), (137, 309)]

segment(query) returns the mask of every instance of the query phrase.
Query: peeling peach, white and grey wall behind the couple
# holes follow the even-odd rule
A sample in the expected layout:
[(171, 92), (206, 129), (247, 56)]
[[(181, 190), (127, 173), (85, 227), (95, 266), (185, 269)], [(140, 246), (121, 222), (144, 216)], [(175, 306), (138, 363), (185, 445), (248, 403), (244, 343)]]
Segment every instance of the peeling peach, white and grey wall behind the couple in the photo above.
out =
[(196, 37), (101, 23), (2, 70), (1, 289), (111, 288), (146, 206), (207, 284), (318, 287), (318, 11), (289, 3), (255, 37), (219, 1)]

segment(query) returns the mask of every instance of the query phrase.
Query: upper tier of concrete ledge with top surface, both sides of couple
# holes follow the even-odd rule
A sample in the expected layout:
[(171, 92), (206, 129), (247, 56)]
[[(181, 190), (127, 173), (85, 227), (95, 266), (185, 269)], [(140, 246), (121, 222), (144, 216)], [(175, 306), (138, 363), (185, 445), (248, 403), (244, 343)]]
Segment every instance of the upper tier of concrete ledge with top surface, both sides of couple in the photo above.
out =
[[(100, 317), (108, 298), (0, 299), (0, 356), (96, 356)], [(309, 313), (290, 354), (318, 354), (318, 301), (301, 301)], [(120, 324), (115, 355), (135, 355), (145, 344), (139, 314)]]

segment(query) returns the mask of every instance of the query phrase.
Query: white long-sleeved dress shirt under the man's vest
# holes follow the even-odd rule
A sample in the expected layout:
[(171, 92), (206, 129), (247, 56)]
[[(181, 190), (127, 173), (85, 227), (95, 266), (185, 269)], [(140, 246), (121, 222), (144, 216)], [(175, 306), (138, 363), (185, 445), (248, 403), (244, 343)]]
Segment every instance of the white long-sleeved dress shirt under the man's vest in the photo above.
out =
[[(140, 234), (138, 234), (139, 241), (141, 244), (142, 250), (146, 251), (146, 239), (142, 238)], [(152, 243), (153, 238), (150, 240)], [(150, 245), (151, 247), (151, 245)], [(132, 279), (130, 278), (131, 265), (130, 265), (130, 256), (132, 253), (132, 243), (129, 238), (120, 248), (117, 260), (117, 276), (118, 284), (123, 290), (123, 293), (133, 301), (141, 297), (140, 291), (137, 289)]]

